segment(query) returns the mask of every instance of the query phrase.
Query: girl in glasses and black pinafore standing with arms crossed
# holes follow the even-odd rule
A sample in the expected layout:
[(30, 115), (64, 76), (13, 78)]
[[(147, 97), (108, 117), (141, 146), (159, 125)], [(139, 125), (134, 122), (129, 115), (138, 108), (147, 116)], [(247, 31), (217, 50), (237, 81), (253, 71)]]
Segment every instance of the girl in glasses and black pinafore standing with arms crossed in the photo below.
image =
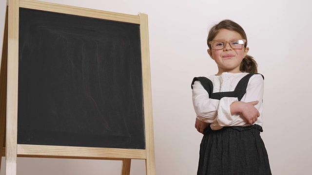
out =
[(192, 82), (195, 128), (204, 134), (197, 175), (272, 175), (262, 132), (263, 76), (240, 25), (223, 20), (207, 38), (218, 72)]

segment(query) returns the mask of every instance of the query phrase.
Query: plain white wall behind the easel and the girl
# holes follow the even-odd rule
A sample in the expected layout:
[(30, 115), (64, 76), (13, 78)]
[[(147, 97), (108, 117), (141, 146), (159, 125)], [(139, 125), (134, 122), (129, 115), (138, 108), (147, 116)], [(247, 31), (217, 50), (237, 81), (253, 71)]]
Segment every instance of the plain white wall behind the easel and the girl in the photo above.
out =
[[(265, 76), (264, 132), (273, 175), (308, 175), (312, 165), (312, 11), (309, 0), (47, 0), (149, 15), (156, 173), (195, 175), (201, 134), (190, 84), (216, 73), (206, 53), (208, 28), (229, 18), (247, 33)], [(3, 33), (5, 0), (0, 0)], [(0, 35), (2, 41), (2, 35)], [(1, 173), (4, 175), (5, 159)], [(18, 158), (19, 175), (119, 175), (121, 162)], [(135, 160), (132, 175), (145, 175)]]

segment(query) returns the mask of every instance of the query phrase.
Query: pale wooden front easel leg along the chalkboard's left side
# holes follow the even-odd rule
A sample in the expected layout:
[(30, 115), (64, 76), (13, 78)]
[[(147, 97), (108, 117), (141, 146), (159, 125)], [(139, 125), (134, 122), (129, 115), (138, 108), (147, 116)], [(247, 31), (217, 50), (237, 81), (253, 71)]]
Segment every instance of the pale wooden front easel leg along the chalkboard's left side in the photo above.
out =
[(16, 175), (20, 0), (8, 0), (8, 59), (5, 160), (6, 175)]

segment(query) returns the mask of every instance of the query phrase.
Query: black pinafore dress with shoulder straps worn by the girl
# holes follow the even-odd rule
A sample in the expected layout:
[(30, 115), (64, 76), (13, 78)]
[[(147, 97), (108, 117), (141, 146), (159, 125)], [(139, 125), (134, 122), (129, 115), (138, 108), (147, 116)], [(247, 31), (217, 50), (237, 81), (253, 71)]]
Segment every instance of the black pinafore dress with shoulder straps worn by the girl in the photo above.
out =
[[(240, 101), (254, 74), (244, 76), (231, 92), (213, 93), (213, 83), (206, 77), (195, 77), (192, 85), (200, 81), (211, 99), (237, 97)], [(200, 143), (197, 175), (272, 175), (260, 132), (263, 132), (262, 127), (257, 124), (220, 130), (212, 130), (208, 126)]]

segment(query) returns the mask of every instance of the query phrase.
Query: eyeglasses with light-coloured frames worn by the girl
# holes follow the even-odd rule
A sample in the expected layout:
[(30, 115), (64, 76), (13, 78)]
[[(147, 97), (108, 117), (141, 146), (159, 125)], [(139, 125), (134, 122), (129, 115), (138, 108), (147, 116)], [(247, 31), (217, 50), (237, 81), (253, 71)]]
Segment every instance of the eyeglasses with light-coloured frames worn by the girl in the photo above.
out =
[(225, 48), (227, 43), (229, 43), (233, 49), (243, 49), (246, 42), (247, 42), (246, 39), (233, 39), (230, 41), (224, 40), (210, 41), (209, 44), (211, 45), (211, 48), (213, 50), (221, 50)]

